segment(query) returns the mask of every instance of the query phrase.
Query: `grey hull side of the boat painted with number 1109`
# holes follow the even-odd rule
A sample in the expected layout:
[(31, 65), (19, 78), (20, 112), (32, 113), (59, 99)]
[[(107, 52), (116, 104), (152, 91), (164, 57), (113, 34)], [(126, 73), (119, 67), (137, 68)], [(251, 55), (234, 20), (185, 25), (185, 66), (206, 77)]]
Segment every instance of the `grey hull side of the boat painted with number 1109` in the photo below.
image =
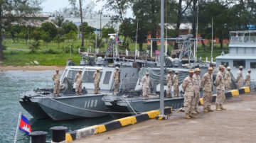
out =
[(45, 98), (39, 105), (53, 120), (98, 118), (108, 115), (102, 97), (103, 95)]

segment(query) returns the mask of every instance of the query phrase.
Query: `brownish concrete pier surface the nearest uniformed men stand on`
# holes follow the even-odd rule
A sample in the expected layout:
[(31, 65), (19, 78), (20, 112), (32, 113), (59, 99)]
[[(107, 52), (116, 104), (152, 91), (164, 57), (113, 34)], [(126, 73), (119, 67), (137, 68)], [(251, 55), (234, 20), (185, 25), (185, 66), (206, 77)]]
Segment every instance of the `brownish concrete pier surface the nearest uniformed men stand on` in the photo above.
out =
[(255, 142), (256, 93), (228, 98), (224, 107), (190, 120), (176, 111), (168, 120), (146, 120), (74, 142)]

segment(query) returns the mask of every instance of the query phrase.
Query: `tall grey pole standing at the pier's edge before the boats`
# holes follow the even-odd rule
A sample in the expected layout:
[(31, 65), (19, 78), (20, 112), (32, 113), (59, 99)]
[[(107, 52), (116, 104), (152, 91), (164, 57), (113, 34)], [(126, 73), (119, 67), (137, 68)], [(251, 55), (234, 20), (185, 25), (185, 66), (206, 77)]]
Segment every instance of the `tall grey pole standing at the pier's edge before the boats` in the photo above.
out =
[(161, 0), (160, 115), (164, 116), (164, 0)]

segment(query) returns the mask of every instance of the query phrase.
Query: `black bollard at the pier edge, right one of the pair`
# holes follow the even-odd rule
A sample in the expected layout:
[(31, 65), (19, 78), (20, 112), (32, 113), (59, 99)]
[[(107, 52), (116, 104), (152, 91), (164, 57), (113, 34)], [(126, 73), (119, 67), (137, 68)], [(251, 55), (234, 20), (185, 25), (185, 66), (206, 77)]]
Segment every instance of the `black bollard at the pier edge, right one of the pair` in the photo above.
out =
[(65, 141), (65, 132), (66, 130), (68, 130), (68, 127), (56, 126), (56, 127), (50, 127), (50, 130), (52, 130), (53, 142)]

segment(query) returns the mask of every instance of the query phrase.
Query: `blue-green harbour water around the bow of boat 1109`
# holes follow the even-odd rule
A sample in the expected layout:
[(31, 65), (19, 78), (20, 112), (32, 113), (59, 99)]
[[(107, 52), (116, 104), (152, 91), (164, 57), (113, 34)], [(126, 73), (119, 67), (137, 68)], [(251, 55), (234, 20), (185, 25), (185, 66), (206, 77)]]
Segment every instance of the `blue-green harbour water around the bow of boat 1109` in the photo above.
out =
[[(54, 71), (0, 71), (0, 142), (14, 142), (18, 113), (28, 118), (32, 131), (48, 132), (47, 142), (50, 142), (50, 127), (65, 126), (68, 131), (77, 130), (82, 127), (97, 125), (107, 122), (113, 118), (106, 116), (103, 118), (77, 119), (53, 121), (50, 119), (35, 120), (18, 103), (18, 95), (24, 91), (31, 91), (34, 88), (52, 88), (51, 76)], [(61, 74), (61, 72), (60, 72)], [(29, 142), (29, 137), (24, 132), (18, 131), (17, 142)]]

